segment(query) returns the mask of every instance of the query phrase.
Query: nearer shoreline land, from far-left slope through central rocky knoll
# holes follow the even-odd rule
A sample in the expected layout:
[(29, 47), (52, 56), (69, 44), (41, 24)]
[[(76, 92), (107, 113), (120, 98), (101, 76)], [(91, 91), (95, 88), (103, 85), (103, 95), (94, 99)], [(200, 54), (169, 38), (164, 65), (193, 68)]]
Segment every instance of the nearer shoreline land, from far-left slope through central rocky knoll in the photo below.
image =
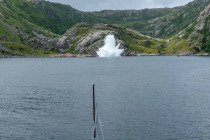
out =
[[(13, 1), (14, 2), (14, 1)], [(10, 3), (11, 4), (11, 3)], [(45, 56), (61, 53), (96, 56), (104, 37), (115, 34), (124, 55), (157, 53), (160, 43), (135, 31), (104, 24), (76, 24), (62, 36), (27, 21), (0, 2), (0, 55)]]

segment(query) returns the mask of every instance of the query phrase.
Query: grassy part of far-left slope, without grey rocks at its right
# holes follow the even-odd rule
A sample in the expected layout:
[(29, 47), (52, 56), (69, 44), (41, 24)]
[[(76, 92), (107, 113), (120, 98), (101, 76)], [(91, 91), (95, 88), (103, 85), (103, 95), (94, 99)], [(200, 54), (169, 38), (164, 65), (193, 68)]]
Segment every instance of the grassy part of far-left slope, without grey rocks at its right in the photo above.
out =
[(15, 12), (7, 8), (7, 5), (0, 2), (0, 43), (9, 51), (3, 49), (1, 53), (6, 55), (45, 55), (44, 51), (34, 49), (34, 45), (29, 41), (34, 37), (33, 31), (48, 37), (57, 35), (48, 32), (44, 28), (23, 19)]

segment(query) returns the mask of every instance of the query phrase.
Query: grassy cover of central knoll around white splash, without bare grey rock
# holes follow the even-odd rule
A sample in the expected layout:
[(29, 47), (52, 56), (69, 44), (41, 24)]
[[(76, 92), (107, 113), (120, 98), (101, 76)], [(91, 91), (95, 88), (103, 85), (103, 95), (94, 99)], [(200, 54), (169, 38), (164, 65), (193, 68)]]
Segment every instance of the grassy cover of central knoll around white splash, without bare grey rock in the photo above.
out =
[[(142, 34), (139, 34), (138, 32), (130, 30), (130, 29), (121, 28), (121, 27), (112, 26), (112, 25), (103, 25), (103, 24), (102, 25), (77, 24), (74, 27), (72, 27), (69, 31), (67, 31), (67, 32), (75, 32), (75, 35), (78, 38), (75, 41), (73, 41), (72, 46), (68, 48), (66, 52), (77, 53), (75, 52), (75, 47), (77, 46), (77, 44), (79, 43), (78, 41), (81, 38), (86, 37), (89, 33), (103, 31), (103, 30), (112, 31), (116, 39), (122, 40), (124, 42), (126, 53), (129, 53), (129, 52), (148, 53), (148, 54), (158, 53), (157, 49), (161, 45), (160, 42), (157, 41), (156, 39), (145, 37)], [(105, 37), (105, 35), (102, 35), (102, 36), (103, 38)], [(99, 46), (95, 46), (94, 44), (102, 46), (103, 39), (96, 40), (92, 44), (85, 46), (84, 51), (87, 51), (92, 48), (97, 49), (99, 47)]]

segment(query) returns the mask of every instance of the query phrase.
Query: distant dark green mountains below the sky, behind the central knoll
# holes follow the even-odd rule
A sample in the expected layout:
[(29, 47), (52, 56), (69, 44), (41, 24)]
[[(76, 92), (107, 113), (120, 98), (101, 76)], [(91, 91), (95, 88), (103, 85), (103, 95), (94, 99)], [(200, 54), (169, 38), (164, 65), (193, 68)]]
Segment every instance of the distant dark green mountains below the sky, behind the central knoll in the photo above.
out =
[(56, 34), (77, 23), (104, 23), (131, 28), (153, 37), (172, 37), (197, 19), (210, 0), (194, 0), (175, 8), (104, 10), (82, 12), (71, 6), (44, 0), (4, 0), (7, 7), (28, 21)]

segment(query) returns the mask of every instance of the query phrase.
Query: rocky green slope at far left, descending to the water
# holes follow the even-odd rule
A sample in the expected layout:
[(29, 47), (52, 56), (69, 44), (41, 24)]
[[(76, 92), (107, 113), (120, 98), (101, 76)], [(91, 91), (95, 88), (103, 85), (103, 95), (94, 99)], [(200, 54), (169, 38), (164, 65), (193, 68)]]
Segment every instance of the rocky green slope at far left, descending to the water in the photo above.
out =
[(0, 2), (0, 53), (25, 56), (42, 55), (39, 49), (53, 47), (53, 34), (44, 28), (32, 24), (7, 8)]

